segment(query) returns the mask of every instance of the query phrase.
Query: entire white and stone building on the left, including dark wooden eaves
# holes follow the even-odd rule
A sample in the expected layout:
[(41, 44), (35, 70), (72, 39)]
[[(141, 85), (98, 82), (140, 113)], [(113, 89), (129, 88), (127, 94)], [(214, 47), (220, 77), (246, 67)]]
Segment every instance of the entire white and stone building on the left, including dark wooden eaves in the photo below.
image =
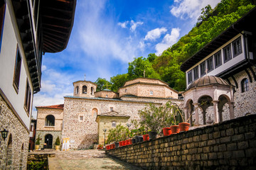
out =
[(44, 52), (68, 44), (76, 1), (0, 0), (0, 169), (26, 169), (33, 94)]

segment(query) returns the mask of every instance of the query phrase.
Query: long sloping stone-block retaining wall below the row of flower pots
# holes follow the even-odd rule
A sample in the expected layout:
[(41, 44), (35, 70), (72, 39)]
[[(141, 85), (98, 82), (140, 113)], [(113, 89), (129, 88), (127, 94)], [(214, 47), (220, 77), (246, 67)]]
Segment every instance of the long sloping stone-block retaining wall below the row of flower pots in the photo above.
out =
[(256, 169), (256, 115), (106, 153), (143, 169)]

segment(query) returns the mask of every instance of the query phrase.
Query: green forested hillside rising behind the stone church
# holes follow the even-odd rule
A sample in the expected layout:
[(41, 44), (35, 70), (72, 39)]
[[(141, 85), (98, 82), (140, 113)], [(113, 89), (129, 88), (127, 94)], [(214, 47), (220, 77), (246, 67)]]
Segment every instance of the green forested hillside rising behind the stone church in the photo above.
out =
[(148, 78), (166, 81), (171, 88), (177, 91), (184, 91), (186, 77), (180, 69), (182, 62), (244, 16), (255, 7), (255, 4), (255, 0), (223, 0), (215, 8), (210, 5), (202, 8), (196, 25), (176, 44), (159, 56), (151, 53), (146, 58), (134, 58), (134, 61), (128, 63), (127, 74), (117, 74), (111, 77), (110, 81), (98, 78), (95, 82), (97, 91), (102, 89), (117, 91), (125, 81), (144, 77), (144, 74)]

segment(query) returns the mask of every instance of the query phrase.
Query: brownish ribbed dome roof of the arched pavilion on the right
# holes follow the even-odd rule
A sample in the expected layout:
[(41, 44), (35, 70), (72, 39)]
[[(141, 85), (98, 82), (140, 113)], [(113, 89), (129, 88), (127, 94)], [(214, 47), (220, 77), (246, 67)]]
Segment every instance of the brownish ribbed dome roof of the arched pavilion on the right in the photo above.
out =
[(198, 87), (198, 86), (208, 86), (212, 84), (231, 86), (230, 84), (227, 83), (227, 81), (221, 79), (220, 77), (205, 76), (193, 81), (191, 85), (188, 86), (187, 90), (192, 89), (194, 87)]

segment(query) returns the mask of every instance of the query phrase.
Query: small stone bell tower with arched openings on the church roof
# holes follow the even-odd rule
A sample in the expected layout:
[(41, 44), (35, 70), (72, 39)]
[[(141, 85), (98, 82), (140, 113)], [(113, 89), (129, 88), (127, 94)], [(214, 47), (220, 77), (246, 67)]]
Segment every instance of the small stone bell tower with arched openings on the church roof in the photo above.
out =
[(75, 81), (74, 86), (74, 96), (78, 97), (95, 97), (95, 91), (97, 84), (92, 81)]

